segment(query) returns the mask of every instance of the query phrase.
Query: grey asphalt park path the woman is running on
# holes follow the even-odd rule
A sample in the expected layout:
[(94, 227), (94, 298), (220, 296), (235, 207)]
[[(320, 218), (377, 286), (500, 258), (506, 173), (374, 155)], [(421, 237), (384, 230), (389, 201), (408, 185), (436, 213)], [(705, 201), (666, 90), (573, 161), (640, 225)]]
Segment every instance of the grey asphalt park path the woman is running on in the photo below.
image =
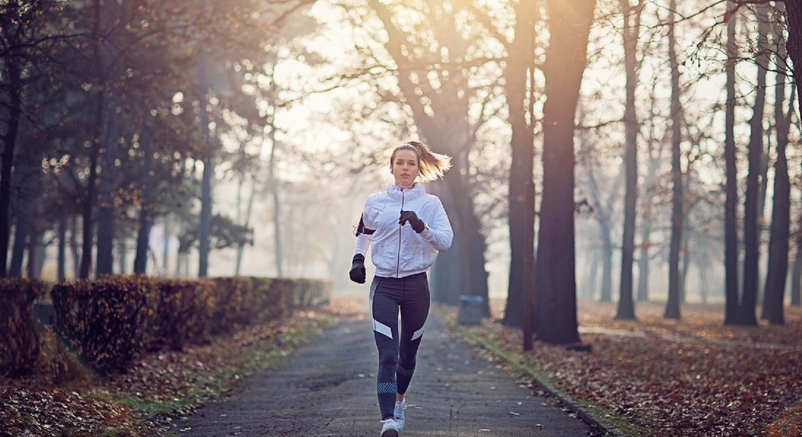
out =
[[(253, 374), (240, 390), (176, 423), (175, 435), (259, 437), (379, 435), (378, 366), (366, 317), (330, 326), (277, 370)], [(433, 316), (407, 392), (403, 437), (593, 435), (569, 411), (533, 395)]]

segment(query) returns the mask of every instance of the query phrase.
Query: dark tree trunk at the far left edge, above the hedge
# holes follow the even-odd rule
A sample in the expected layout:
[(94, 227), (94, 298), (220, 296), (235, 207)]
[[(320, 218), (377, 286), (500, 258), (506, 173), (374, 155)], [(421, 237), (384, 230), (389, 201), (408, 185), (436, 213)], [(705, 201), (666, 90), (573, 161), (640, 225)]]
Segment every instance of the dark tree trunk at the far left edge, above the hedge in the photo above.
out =
[(3, 59), (10, 84), (8, 89), (9, 108), (5, 133), (2, 136), (2, 163), (0, 163), (0, 277), (6, 277), (8, 264), (8, 245), (10, 241), (11, 173), (14, 171), (14, 148), (17, 145), (17, 132), (22, 118), (22, 71), (17, 59)]

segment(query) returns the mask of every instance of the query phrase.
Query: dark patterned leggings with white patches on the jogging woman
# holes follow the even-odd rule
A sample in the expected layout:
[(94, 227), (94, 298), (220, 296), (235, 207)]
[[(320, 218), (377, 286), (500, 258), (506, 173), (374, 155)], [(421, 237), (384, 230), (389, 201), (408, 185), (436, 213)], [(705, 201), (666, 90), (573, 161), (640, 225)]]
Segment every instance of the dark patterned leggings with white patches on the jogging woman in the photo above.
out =
[(376, 395), (383, 420), (393, 417), (395, 394), (407, 393), (412, 374), (415, 373), (415, 356), (428, 315), (429, 282), (425, 272), (399, 278), (373, 278), (371, 318), (376, 347), (379, 349)]

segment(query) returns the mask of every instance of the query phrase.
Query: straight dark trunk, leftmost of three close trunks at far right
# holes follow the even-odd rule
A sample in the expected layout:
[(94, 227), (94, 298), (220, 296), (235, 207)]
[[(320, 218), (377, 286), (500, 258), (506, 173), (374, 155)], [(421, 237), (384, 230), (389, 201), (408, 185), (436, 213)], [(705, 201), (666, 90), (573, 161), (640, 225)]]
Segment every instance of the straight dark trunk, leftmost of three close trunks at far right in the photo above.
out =
[[(727, 2), (727, 8), (733, 7)], [(724, 201), (724, 276), (725, 297), (724, 323), (739, 322), (738, 283), (738, 162), (735, 151), (735, 63), (738, 60), (735, 41), (735, 15), (727, 22), (727, 103), (724, 116), (724, 165), (726, 167), (727, 198)]]

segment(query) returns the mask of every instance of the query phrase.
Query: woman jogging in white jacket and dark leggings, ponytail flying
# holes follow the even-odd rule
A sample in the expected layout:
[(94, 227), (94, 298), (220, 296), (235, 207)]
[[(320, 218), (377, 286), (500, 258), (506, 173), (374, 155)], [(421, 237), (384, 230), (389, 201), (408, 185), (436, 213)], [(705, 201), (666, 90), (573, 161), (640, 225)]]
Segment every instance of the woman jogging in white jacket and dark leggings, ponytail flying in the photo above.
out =
[(368, 246), (376, 267), (370, 305), (379, 349), (376, 393), (382, 413), (381, 437), (397, 437), (403, 430), (404, 397), (429, 314), (426, 271), (438, 252), (451, 247), (454, 235), (439, 198), (427, 194), (416, 181), (435, 180), (450, 167), (451, 157), (431, 152), (426, 144), (401, 144), (390, 158), (395, 184), (368, 196), (357, 226), (351, 281), (365, 283)]

